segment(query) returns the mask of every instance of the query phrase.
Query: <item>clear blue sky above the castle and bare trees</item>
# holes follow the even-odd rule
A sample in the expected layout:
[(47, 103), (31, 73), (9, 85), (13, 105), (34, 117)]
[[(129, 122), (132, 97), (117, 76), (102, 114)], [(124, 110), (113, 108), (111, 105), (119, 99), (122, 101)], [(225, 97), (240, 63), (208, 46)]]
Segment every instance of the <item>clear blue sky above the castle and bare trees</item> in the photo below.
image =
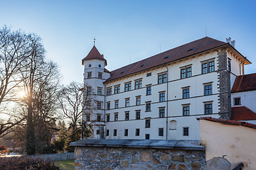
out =
[(193, 40), (225, 41), (256, 72), (256, 1), (0, 0), (0, 27), (36, 33), (46, 57), (60, 67), (63, 84), (83, 81), (82, 59), (95, 46), (112, 71)]

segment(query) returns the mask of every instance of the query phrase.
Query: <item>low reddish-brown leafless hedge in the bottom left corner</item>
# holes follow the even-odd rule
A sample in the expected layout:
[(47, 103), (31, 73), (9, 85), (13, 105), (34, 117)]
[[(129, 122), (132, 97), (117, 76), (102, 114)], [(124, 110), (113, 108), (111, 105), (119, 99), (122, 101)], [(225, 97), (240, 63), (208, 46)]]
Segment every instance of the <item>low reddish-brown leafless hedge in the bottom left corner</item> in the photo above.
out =
[(34, 159), (32, 157), (2, 157), (0, 158), (0, 169), (3, 170), (59, 170), (53, 162), (44, 161), (42, 159)]

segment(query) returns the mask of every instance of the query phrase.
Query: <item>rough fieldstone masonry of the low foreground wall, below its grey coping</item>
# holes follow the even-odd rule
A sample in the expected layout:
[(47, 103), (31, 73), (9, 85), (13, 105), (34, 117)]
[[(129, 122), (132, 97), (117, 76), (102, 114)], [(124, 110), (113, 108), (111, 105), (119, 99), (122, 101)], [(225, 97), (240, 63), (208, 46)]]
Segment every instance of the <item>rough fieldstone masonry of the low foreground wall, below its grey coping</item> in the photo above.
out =
[(76, 147), (75, 169), (201, 169), (205, 152), (128, 147)]

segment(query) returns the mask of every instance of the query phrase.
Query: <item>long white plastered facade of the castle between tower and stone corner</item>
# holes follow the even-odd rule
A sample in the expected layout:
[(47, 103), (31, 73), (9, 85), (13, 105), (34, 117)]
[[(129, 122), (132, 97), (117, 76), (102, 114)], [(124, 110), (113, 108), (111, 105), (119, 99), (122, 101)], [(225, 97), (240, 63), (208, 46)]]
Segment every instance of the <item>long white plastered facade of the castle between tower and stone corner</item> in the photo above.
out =
[[(213, 103), (213, 113), (208, 115), (218, 118), (218, 74), (211, 72), (201, 74), (201, 61), (215, 60), (215, 71), (217, 70), (217, 52), (207, 53), (189, 60), (182, 60), (169, 64), (168, 88), (168, 125), (171, 120), (176, 120), (176, 130), (167, 127), (168, 139), (199, 140), (199, 125), (196, 118), (204, 115), (204, 103)], [(192, 64), (192, 77), (180, 79), (181, 67)], [(146, 74), (151, 72), (151, 77)], [(166, 102), (159, 103), (159, 92), (165, 91), (167, 100), (167, 84), (157, 84), (158, 74), (166, 72), (166, 67), (156, 67), (155, 69), (134, 74), (129, 77), (117, 79), (106, 83), (106, 88), (112, 87), (112, 95), (106, 96), (106, 102), (110, 102), (111, 109), (106, 111), (110, 114), (110, 122), (106, 123), (106, 130), (110, 130), (107, 139), (144, 139), (145, 134), (150, 134), (150, 139), (166, 139), (166, 118), (159, 118), (159, 107), (165, 107)], [(134, 89), (134, 80), (142, 79), (142, 89)], [(124, 92), (124, 84), (128, 81), (132, 83), (132, 91)], [(203, 87), (205, 83), (212, 83), (213, 95), (204, 96)], [(114, 94), (114, 86), (120, 84), (120, 94)], [(146, 96), (146, 85), (151, 84), (151, 95)], [(182, 98), (182, 87), (190, 86), (190, 98)], [(136, 96), (141, 96), (141, 106), (136, 105)], [(125, 98), (130, 99), (130, 107), (125, 108)], [(119, 100), (119, 108), (114, 109), (114, 101)], [(151, 101), (151, 111), (146, 112), (146, 101)], [(190, 103), (190, 115), (183, 116), (183, 104)], [(136, 111), (141, 111), (141, 120), (135, 120)], [(125, 119), (125, 112), (129, 111), (129, 120)], [(114, 121), (114, 113), (118, 113), (118, 120)], [(151, 118), (151, 128), (145, 128), (145, 119)], [(183, 127), (189, 128), (189, 136), (183, 136)], [(135, 136), (135, 130), (140, 129), (139, 137)], [(159, 128), (164, 128), (164, 137), (159, 137)], [(113, 136), (113, 130), (117, 129), (117, 136)], [(129, 130), (129, 135), (124, 137), (124, 129)]]

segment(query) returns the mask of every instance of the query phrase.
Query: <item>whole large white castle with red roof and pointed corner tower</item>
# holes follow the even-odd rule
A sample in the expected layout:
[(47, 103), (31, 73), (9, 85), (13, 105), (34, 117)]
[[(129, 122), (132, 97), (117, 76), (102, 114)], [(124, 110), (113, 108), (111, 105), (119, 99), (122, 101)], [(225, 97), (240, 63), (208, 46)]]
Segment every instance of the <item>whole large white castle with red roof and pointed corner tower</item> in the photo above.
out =
[(112, 72), (93, 46), (82, 64), (97, 106), (83, 120), (95, 138), (200, 140), (196, 118), (230, 119), (230, 91), (251, 64), (234, 46), (201, 38)]

